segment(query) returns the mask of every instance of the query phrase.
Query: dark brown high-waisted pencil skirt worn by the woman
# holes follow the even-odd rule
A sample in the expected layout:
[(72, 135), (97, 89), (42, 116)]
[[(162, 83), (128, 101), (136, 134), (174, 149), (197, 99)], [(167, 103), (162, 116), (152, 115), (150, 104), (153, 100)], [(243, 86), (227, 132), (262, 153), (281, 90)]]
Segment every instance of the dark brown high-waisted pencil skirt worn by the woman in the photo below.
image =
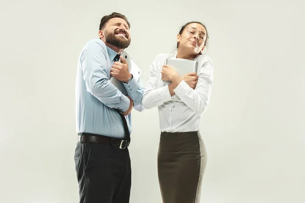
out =
[(199, 131), (161, 132), (158, 177), (163, 203), (199, 203), (206, 160)]

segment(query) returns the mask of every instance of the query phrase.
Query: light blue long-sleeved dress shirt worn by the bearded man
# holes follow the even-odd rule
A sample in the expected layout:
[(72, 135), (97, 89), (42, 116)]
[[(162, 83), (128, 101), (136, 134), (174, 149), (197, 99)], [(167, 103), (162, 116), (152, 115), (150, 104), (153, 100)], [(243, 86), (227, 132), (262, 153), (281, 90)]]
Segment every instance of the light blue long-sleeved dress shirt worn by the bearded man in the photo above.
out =
[[(90, 40), (82, 49), (77, 64), (75, 88), (76, 131), (124, 138), (124, 126), (115, 109), (127, 111), (130, 100), (110, 82), (110, 69), (116, 52), (100, 39)], [(134, 109), (142, 111), (144, 86), (134, 78), (123, 83), (134, 101)], [(125, 117), (131, 133), (131, 114)]]

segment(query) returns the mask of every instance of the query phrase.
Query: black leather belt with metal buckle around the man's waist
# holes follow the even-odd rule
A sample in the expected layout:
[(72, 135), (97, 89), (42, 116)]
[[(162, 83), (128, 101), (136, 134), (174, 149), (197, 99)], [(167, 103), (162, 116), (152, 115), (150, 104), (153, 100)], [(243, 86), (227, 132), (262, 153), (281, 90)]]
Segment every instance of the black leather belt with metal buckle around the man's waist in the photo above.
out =
[(119, 149), (126, 149), (129, 146), (129, 141), (121, 140), (117, 138), (110, 138), (106, 136), (101, 136), (99, 134), (81, 132), (78, 133), (78, 141), (81, 143), (98, 143), (102, 145), (110, 145), (118, 147)]

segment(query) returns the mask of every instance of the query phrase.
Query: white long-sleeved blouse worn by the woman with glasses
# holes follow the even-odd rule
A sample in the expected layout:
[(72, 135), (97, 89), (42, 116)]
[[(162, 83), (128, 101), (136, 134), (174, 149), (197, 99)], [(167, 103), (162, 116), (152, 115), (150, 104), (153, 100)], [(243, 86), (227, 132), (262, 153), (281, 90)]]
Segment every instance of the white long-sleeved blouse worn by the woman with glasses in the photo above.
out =
[(207, 55), (199, 55), (197, 75), (199, 76), (195, 89), (185, 81), (181, 81), (170, 95), (168, 85), (161, 79), (162, 65), (168, 54), (159, 54), (150, 66), (150, 76), (147, 80), (143, 106), (145, 109), (158, 107), (160, 129), (162, 132), (188, 132), (199, 130), (199, 123), (206, 110), (210, 98), (213, 81), (213, 65)]

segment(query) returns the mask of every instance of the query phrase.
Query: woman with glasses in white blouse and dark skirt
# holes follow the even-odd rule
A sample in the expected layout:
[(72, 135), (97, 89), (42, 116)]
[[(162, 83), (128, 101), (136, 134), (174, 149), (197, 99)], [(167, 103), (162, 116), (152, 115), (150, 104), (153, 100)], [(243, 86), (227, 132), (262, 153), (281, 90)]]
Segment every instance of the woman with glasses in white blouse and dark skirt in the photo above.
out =
[(200, 22), (188, 22), (176, 38), (173, 57), (197, 60), (197, 73), (180, 77), (165, 64), (168, 54), (158, 55), (150, 67), (143, 106), (159, 108), (158, 177), (163, 203), (200, 201), (206, 151), (199, 124), (210, 98), (213, 74), (210, 58), (201, 53), (207, 39)]

